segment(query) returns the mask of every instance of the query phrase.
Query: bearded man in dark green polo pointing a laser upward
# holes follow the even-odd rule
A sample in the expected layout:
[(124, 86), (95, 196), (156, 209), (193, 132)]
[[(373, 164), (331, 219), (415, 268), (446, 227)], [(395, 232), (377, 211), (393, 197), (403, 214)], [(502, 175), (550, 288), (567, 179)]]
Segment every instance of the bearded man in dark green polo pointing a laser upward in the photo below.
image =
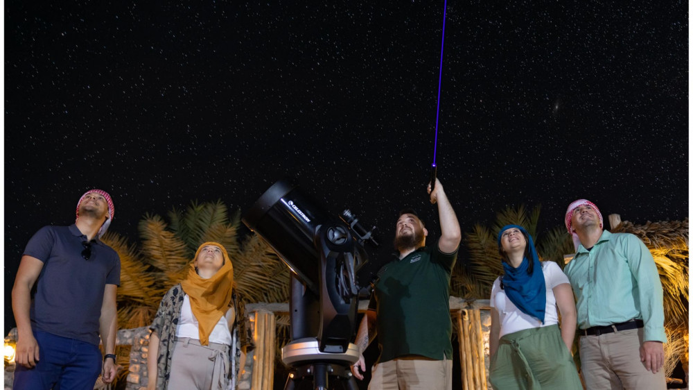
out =
[[(438, 205), (441, 237), (425, 246), (428, 230), (413, 210), (403, 210), (396, 224), (398, 255), (378, 273), (369, 310), (356, 335), (361, 356), (351, 367), (363, 379), (363, 351), (376, 334), (380, 358), (369, 390), (452, 389), (453, 325), (450, 321), (450, 272), (457, 260), (461, 232), (443, 186), (428, 186)], [(377, 321), (376, 321), (377, 320)]]

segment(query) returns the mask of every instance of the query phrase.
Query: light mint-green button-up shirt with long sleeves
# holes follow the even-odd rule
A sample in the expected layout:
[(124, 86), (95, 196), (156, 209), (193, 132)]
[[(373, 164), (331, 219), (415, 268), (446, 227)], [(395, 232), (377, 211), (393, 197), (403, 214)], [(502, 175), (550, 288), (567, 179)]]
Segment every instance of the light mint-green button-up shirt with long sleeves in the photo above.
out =
[(577, 298), (578, 328), (642, 319), (643, 341), (667, 342), (662, 283), (638, 237), (604, 230), (591, 251), (580, 245), (563, 271)]

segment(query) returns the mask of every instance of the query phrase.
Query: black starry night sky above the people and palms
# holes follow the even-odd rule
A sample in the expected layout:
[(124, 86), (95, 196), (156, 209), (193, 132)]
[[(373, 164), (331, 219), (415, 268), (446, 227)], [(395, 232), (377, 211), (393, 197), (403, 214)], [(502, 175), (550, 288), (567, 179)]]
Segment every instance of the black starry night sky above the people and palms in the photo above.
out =
[[(435, 222), (443, 10), (5, 1), (5, 332), (26, 241), (93, 187), (132, 243), (146, 212), (247, 210), (284, 177), (387, 251), (403, 206)], [(463, 232), (521, 203), (545, 231), (577, 198), (687, 217), (687, 19), (685, 1), (450, 0), (437, 164)]]

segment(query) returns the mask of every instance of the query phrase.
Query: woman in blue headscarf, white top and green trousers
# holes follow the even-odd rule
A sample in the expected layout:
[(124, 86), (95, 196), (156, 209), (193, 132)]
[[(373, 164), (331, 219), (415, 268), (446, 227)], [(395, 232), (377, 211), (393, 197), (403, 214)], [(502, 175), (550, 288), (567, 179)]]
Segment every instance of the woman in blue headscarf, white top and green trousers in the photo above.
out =
[(555, 262), (539, 262), (521, 226), (498, 232), (498, 253), (505, 273), (491, 289), (493, 388), (581, 390), (570, 353), (577, 313), (568, 278)]

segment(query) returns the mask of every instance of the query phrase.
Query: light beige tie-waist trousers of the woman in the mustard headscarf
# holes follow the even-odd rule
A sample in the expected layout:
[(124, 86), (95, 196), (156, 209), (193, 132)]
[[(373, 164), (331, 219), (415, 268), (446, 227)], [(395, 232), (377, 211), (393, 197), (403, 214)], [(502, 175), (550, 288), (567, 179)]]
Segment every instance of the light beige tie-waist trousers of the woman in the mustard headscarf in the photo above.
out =
[(229, 346), (176, 338), (168, 390), (225, 390), (229, 384)]

